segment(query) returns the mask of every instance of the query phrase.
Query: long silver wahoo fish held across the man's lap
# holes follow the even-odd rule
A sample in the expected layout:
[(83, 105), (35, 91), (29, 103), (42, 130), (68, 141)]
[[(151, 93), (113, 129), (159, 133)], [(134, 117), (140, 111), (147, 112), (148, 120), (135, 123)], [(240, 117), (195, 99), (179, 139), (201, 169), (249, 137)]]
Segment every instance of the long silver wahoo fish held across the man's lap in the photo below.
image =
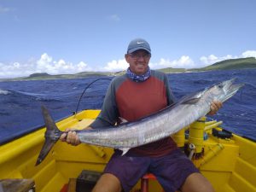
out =
[[(212, 85), (210, 88), (183, 96), (178, 102), (137, 121), (102, 127), (102, 129), (76, 132), (81, 143), (119, 148), (125, 154), (130, 148), (170, 137), (183, 127), (205, 116), (210, 112), (213, 101), (225, 102), (244, 85), (233, 84), (234, 81), (235, 79), (226, 80)], [(57, 128), (44, 106), (42, 106), (42, 112), (46, 125), (45, 142), (38, 156), (36, 166), (44, 160), (49, 150), (64, 132)]]

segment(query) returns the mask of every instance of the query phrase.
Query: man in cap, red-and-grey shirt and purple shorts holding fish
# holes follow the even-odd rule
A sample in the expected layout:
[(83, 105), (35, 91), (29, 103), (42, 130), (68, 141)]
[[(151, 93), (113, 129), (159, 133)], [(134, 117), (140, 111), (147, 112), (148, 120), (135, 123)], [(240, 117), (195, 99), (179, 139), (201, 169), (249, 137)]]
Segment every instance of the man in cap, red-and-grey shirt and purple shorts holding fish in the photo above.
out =
[[(90, 129), (114, 125), (119, 117), (134, 121), (158, 112), (174, 102), (165, 73), (150, 70), (148, 62), (151, 49), (146, 40), (137, 38), (128, 45), (125, 60), (129, 68), (125, 75), (116, 77), (108, 87), (102, 112), (90, 125)], [(210, 114), (221, 108), (221, 102), (213, 102)], [(78, 145), (75, 131), (61, 136), (62, 141)], [(146, 172), (152, 172), (166, 192), (177, 189), (186, 192), (213, 191), (211, 183), (195, 168), (193, 163), (177, 148), (171, 137), (154, 143), (131, 148), (121, 155), (115, 150), (94, 192), (125, 192), (137, 183)]]

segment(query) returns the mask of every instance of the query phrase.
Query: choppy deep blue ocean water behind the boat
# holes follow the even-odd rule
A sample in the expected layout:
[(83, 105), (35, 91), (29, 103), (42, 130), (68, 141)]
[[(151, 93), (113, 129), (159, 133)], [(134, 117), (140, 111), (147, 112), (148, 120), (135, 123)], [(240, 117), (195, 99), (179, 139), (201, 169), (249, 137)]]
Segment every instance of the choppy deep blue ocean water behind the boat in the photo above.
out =
[[(72, 114), (84, 88), (99, 78), (0, 82), (0, 143), (44, 125), (42, 104), (55, 120)], [(168, 78), (177, 99), (226, 79), (236, 78), (237, 83), (246, 84), (211, 118), (223, 120), (222, 126), (228, 131), (256, 140), (256, 69), (172, 73)], [(92, 84), (79, 110), (101, 108), (109, 83), (99, 80)]]

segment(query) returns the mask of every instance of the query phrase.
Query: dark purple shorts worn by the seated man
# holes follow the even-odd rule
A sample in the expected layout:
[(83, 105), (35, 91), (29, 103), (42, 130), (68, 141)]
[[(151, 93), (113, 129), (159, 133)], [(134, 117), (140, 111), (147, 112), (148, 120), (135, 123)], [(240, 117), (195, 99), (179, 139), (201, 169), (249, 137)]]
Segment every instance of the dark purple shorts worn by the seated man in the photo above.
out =
[(117, 151), (104, 172), (118, 177), (125, 192), (129, 192), (146, 172), (153, 173), (165, 191), (175, 192), (191, 173), (199, 171), (177, 148), (162, 157), (121, 156)]

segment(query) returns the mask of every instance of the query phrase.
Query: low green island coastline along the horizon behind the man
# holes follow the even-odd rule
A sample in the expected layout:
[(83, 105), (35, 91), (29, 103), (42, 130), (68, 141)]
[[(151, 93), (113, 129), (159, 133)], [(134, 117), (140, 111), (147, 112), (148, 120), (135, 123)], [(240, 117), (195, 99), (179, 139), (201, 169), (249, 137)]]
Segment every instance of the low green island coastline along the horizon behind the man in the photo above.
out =
[[(216, 62), (207, 67), (201, 68), (162, 68), (157, 69), (164, 73), (189, 73), (189, 72), (204, 72), (204, 71), (213, 71), (213, 70), (230, 70), (230, 69), (245, 69), (245, 68), (256, 68), (256, 58), (247, 57), (239, 59), (230, 59), (225, 61)], [(33, 73), (26, 78), (13, 78), (13, 79), (0, 79), (0, 81), (14, 81), (14, 80), (41, 80), (41, 79), (79, 79), (91, 76), (118, 76), (124, 74), (125, 71), (116, 72), (116, 73), (105, 73), (105, 72), (82, 72), (75, 74), (58, 74), (50, 75), (48, 73)]]

